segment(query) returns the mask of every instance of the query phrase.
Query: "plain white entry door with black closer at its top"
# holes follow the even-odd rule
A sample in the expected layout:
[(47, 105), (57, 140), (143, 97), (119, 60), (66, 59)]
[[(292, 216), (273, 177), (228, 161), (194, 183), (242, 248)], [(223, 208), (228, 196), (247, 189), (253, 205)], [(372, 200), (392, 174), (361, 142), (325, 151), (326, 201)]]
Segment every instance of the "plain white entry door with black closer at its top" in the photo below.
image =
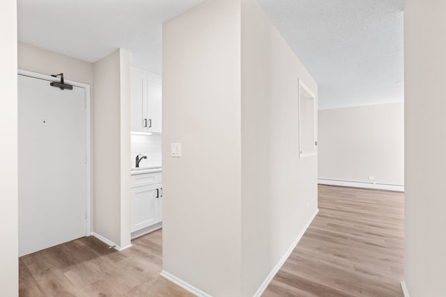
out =
[(18, 76), (19, 256), (86, 235), (84, 100)]

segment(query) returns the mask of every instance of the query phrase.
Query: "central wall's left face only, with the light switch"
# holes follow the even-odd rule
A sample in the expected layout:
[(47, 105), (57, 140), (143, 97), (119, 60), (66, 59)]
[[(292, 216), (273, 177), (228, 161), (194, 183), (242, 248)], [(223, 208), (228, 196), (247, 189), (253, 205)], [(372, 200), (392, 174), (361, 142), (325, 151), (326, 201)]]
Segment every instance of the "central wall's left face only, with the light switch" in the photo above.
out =
[(240, 296), (239, 0), (164, 24), (162, 59), (163, 270)]

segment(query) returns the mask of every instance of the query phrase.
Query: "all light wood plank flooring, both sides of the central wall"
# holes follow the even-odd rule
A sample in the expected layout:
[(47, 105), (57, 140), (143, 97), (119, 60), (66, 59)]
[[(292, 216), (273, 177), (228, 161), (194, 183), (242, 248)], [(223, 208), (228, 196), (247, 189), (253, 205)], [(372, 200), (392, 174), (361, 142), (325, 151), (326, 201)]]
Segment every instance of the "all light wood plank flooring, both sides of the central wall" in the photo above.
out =
[[(263, 296), (403, 296), (403, 194), (319, 186), (318, 199)], [(161, 230), (132, 244), (117, 252), (86, 237), (21, 257), (20, 296), (192, 296), (160, 277)]]

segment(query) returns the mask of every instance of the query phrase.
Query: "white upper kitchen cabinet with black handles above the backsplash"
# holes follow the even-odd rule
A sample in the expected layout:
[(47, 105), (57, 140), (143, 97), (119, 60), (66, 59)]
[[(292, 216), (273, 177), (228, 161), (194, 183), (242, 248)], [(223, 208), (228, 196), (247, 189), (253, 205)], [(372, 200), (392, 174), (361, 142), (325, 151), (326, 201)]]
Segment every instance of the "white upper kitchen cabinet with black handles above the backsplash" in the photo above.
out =
[(131, 129), (161, 133), (161, 77), (132, 67)]

